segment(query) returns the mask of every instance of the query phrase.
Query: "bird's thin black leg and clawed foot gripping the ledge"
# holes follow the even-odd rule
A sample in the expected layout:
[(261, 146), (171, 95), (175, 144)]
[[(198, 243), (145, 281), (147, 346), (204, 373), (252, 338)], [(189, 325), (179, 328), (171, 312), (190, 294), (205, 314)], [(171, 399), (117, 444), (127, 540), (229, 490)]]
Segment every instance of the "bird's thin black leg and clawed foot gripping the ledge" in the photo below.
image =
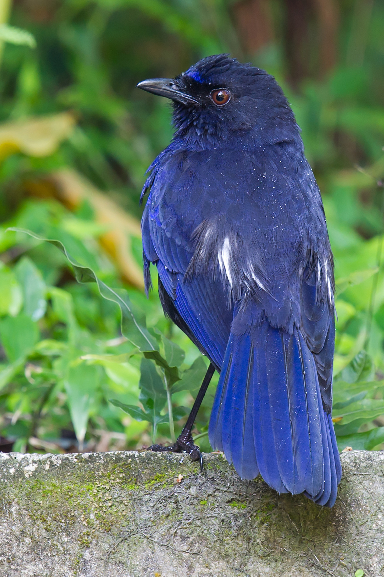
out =
[(187, 422), (184, 425), (184, 429), (181, 431), (180, 435), (176, 439), (176, 443), (170, 445), (170, 447), (163, 447), (163, 445), (151, 445), (149, 451), (170, 451), (172, 453), (188, 453), (193, 461), (200, 461), (200, 470), (203, 470), (203, 456), (201, 455), (200, 448), (193, 444), (192, 439), (192, 427), (195, 422), (197, 411), (200, 409), (201, 401), (204, 399), (204, 395), (207, 392), (208, 385), (211, 382), (212, 376), (215, 372), (215, 367), (210, 364), (206, 372), (206, 376), (203, 379), (200, 390), (197, 393), (196, 400), (193, 403), (191, 413)]

